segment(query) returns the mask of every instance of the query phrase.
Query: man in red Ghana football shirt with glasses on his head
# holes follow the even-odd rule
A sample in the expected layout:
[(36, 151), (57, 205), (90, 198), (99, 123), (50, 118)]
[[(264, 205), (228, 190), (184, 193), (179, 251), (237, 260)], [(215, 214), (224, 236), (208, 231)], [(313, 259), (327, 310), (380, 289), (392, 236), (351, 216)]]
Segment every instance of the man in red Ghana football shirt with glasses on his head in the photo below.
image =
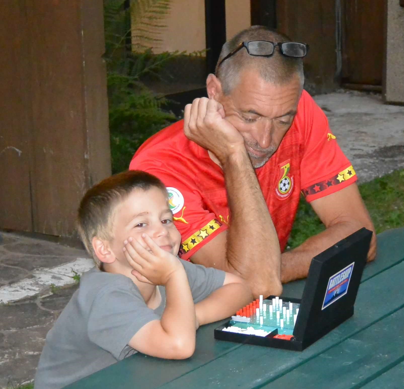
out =
[[(242, 275), (255, 296), (280, 294), (316, 254), (361, 227), (374, 231), (355, 170), (303, 90), (306, 53), (265, 27), (240, 32), (206, 80), (209, 98), (188, 104), (130, 163), (168, 187), (181, 258)], [(284, 252), (300, 192), (326, 230)], [(368, 260), (375, 253), (373, 234)]]

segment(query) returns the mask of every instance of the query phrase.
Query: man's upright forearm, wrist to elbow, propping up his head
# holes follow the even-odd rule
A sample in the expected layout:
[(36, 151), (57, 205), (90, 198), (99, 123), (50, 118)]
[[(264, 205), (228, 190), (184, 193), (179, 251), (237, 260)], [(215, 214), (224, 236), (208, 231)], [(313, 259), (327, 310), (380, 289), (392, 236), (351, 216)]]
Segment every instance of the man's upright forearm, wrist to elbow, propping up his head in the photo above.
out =
[(278, 236), (247, 153), (231, 154), (222, 168), (230, 208), (229, 271), (247, 280), (255, 297), (280, 294)]

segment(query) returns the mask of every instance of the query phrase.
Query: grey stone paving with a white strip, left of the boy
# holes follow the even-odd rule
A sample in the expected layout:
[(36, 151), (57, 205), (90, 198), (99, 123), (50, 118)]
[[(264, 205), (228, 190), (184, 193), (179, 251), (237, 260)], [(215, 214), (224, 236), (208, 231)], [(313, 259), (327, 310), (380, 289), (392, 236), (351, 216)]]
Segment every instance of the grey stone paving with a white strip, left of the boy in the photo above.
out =
[(0, 388), (33, 380), (45, 337), (93, 267), (85, 250), (0, 231)]

